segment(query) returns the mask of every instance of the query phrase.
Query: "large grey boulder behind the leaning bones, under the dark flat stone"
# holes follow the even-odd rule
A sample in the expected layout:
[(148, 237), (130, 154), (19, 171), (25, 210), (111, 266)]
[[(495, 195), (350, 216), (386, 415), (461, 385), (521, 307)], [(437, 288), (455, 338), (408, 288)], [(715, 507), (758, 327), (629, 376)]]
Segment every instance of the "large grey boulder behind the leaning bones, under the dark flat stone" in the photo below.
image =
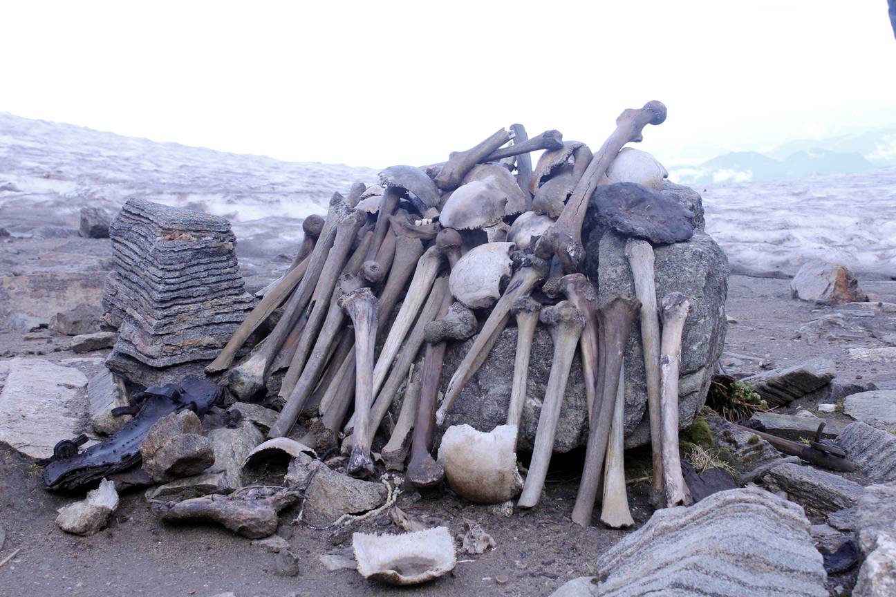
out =
[[(698, 226), (702, 226), (699, 194), (672, 183), (664, 184), (662, 192), (670, 193), (694, 211)], [(589, 209), (589, 215), (592, 211)], [(591, 226), (597, 225), (591, 222)], [(603, 300), (614, 293), (633, 296), (634, 282), (625, 258), (625, 237), (613, 232), (604, 234), (602, 229), (594, 228), (587, 239), (586, 273), (592, 282), (598, 284), (599, 298)], [(711, 236), (701, 229), (694, 230), (694, 236), (686, 243), (657, 246), (654, 252), (658, 299), (677, 291), (685, 294), (691, 302), (691, 311), (685, 323), (679, 380), (679, 422), (684, 428), (694, 421), (694, 414), (706, 401), (712, 374), (725, 343), (728, 258)], [(448, 346), (440, 382), (442, 391), (471, 345), (472, 341), (468, 340)], [(461, 391), (461, 396), (448, 414), (446, 427), (467, 423), (479, 431), (491, 431), (506, 422), (515, 353), (516, 328), (512, 318), (477, 374)], [(531, 449), (535, 440), (553, 354), (554, 345), (547, 328), (539, 325), (532, 343), (529, 384), (522, 413), (519, 443), (522, 450)], [(647, 387), (641, 328), (637, 323), (633, 326), (625, 350), (625, 378), (625, 446), (633, 448), (650, 441), (650, 422), (644, 416)], [(588, 438), (587, 419), (582, 362), (576, 351), (557, 423), (555, 452), (567, 452), (584, 445)]]

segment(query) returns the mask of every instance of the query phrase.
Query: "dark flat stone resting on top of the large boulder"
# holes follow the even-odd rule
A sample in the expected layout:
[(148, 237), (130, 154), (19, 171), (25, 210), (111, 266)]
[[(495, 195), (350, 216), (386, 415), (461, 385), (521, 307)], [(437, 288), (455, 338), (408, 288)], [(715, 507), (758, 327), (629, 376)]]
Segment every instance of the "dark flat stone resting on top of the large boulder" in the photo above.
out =
[[(591, 216), (591, 214), (594, 214)], [(694, 212), (675, 197), (638, 183), (599, 186), (591, 195), (592, 226), (612, 228), (654, 244), (684, 243), (694, 235)]]

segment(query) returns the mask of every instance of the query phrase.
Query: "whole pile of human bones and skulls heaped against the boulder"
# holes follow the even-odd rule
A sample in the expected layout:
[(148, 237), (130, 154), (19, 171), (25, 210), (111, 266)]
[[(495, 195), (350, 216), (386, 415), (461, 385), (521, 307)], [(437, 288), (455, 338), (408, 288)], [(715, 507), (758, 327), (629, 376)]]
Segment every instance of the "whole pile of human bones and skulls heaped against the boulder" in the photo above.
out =
[[(356, 183), (347, 196), (334, 194), (325, 218), (306, 219), (306, 238), (289, 271), (264, 290), (206, 371), (227, 371), (230, 391), (246, 399), (285, 369), (282, 409), (270, 437), (289, 436), (300, 415), (316, 414), (302, 442), (325, 449), (345, 438), (348, 472), (356, 476), (375, 473), (375, 433), (404, 388), (383, 459), (403, 467), (409, 448), (406, 479), (419, 487), (446, 481), (479, 503), (519, 496), (520, 507), (534, 507), (578, 347), (590, 431), (573, 520), (590, 524), (602, 486), (601, 520), (624, 526), (632, 518), (623, 468), (623, 351), (640, 317), (653, 497), (668, 506), (688, 503), (678, 460), (677, 385), (689, 304), (678, 293), (658, 301), (653, 250), (644, 238), (686, 241), (693, 214), (659, 194), (667, 173), (656, 159), (624, 149), (642, 141), (647, 124), (665, 119), (666, 107), (658, 101), (626, 109), (596, 152), (563, 141), (556, 131), (528, 139), (514, 124), (442, 164), (391, 166), (380, 174), (379, 186)], [(530, 152), (537, 150), (544, 153), (533, 171)], [(635, 297), (598, 304), (595, 287), (582, 274), (582, 223), (595, 200), (605, 224), (630, 236), (626, 254)], [(236, 362), (246, 340), (275, 312), (279, 319), (267, 337)], [(519, 332), (506, 425), (487, 433), (450, 427), (436, 459), (436, 426), (444, 424), (512, 315)], [(539, 323), (551, 332), (554, 360), (523, 481), (515, 446)], [(471, 337), (439, 403), (446, 343)], [(420, 351), (419, 382), (408, 383)]]

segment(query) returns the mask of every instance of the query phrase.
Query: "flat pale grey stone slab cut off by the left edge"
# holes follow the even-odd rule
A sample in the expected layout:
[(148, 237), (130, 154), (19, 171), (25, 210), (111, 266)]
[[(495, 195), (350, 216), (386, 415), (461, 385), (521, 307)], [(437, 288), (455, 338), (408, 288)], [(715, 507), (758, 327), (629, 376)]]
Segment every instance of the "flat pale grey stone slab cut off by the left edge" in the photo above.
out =
[(14, 358), (0, 393), (0, 442), (31, 458), (53, 456), (60, 439), (88, 431), (87, 378), (43, 359)]

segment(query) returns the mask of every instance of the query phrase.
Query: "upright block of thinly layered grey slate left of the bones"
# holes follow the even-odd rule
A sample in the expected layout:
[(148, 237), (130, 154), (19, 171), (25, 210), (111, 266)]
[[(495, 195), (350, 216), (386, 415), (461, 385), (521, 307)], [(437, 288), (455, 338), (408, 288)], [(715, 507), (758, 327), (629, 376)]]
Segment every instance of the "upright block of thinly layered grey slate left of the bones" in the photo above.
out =
[(109, 226), (103, 308), (115, 353), (151, 367), (213, 359), (254, 306), (223, 217), (130, 199)]

